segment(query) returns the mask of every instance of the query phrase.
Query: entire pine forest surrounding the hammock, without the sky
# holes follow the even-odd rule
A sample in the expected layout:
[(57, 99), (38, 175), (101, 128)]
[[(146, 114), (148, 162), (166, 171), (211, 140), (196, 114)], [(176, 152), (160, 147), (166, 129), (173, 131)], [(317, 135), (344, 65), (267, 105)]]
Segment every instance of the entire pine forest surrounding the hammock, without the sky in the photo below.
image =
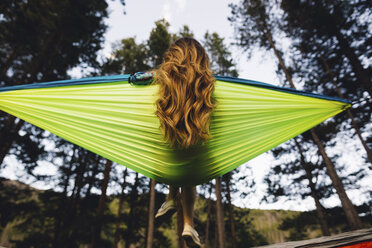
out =
[[(124, 9), (126, 2), (120, 0)], [(108, 6), (108, 0), (1, 1), (0, 87), (69, 79), (74, 68), (84, 77), (151, 70), (175, 40), (195, 37), (189, 26), (172, 32), (172, 23), (159, 19), (145, 41), (121, 39), (102, 57)], [(255, 168), (239, 167), (198, 187), (195, 225), (204, 247), (371, 228), (372, 191), (360, 184), (372, 176), (371, 1), (240, 0), (228, 8), (224, 18), (235, 42), (209, 31), (199, 39), (214, 74), (239, 76), (233, 48), (247, 60), (261, 50), (275, 59), (278, 86), (347, 99), (352, 108), (268, 152), (275, 162), (262, 202), (312, 199), (314, 210), (235, 206), (234, 197), (249, 201), (261, 183), (249, 173)], [(350, 140), (353, 151), (340, 149)], [(345, 161), (347, 154), (352, 159)], [(186, 247), (180, 209), (170, 222), (154, 219), (167, 185), (0, 111), (0, 172), (14, 166), (7, 158), (34, 184), (0, 177), (0, 246)], [(45, 173), (46, 165), (55, 173)], [(355, 203), (349, 192), (369, 198)], [(325, 206), (330, 198), (339, 206)]]

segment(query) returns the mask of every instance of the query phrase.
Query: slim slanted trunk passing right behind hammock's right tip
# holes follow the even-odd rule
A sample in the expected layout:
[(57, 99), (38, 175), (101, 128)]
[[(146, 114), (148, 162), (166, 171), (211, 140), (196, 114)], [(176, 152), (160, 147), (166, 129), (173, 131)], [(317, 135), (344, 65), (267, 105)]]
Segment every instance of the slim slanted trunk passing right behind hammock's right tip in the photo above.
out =
[[(328, 65), (327, 61), (325, 60), (325, 58), (322, 55), (320, 55), (320, 59), (322, 60), (324, 68), (326, 69), (326, 72), (329, 75), (329, 78), (331, 79), (331, 82), (332, 82), (333, 86), (335, 87), (335, 90), (337, 92), (338, 97), (343, 99), (344, 96), (342, 95), (340, 88), (338, 87), (336, 81), (334, 80), (333, 73), (331, 72), (331, 69), (329, 68), (329, 65)], [(353, 125), (353, 127), (355, 129), (355, 133), (358, 135), (358, 138), (359, 138), (360, 142), (362, 143), (362, 146), (364, 147), (364, 150), (367, 153), (367, 157), (368, 157), (369, 162), (372, 163), (372, 151), (371, 151), (371, 149), (369, 149), (366, 141), (363, 139), (362, 132), (360, 131), (359, 126), (354, 119), (354, 116), (353, 116), (353, 113), (352, 113), (351, 109), (350, 108), (347, 109), (346, 113), (351, 120), (351, 124)]]

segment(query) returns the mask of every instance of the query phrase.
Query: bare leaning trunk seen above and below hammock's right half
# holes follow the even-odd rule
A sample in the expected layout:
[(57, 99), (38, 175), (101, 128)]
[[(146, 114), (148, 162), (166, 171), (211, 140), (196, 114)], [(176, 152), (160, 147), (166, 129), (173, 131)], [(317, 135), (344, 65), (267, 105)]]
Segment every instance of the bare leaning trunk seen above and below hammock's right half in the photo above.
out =
[[(279, 51), (275, 47), (275, 44), (274, 44), (274, 41), (272, 39), (270, 30), (266, 31), (266, 37), (267, 37), (267, 39), (270, 43), (271, 48), (274, 50), (274, 53), (275, 53), (276, 57), (279, 60), (279, 64), (280, 64), (282, 70), (284, 71), (284, 74), (285, 74), (288, 82), (290, 83), (290, 85), (293, 89), (296, 89), (296, 87), (293, 83), (292, 77), (288, 73), (287, 67), (285, 66), (284, 60), (282, 59), (282, 57), (280, 56)], [(318, 135), (314, 131), (314, 129), (311, 129), (310, 132), (311, 132), (311, 135), (312, 135), (312, 138), (313, 138), (315, 144), (318, 146), (319, 153), (322, 155), (324, 163), (326, 164), (328, 175), (331, 178), (332, 185), (336, 189), (336, 192), (337, 192), (337, 194), (338, 194), (338, 196), (341, 200), (341, 204), (342, 204), (343, 210), (345, 212), (346, 218), (348, 220), (348, 223), (350, 225), (350, 228), (352, 230), (362, 228), (363, 227), (362, 222), (361, 222), (361, 220), (360, 220), (360, 218), (357, 214), (357, 211), (356, 211), (355, 207), (353, 206), (353, 204), (351, 203), (349, 197), (347, 196), (347, 194), (345, 192), (344, 186), (343, 186), (343, 184), (340, 180), (340, 177), (337, 174), (337, 171), (335, 169), (334, 164), (332, 163), (332, 161), (328, 157), (327, 153), (325, 152), (324, 146), (323, 146), (322, 142), (320, 141)]]

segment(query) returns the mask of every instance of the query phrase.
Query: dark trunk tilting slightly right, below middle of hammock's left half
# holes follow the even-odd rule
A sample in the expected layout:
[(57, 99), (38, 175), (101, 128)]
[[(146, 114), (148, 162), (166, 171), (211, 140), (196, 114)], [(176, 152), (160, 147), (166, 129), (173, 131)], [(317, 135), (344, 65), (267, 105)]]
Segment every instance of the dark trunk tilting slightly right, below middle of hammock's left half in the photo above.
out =
[(98, 247), (97, 243), (100, 240), (101, 236), (101, 228), (102, 228), (102, 222), (103, 222), (103, 210), (105, 207), (105, 201), (106, 201), (106, 191), (108, 182), (110, 179), (110, 171), (111, 171), (112, 162), (111, 160), (106, 161), (105, 165), (105, 171), (103, 172), (103, 182), (102, 182), (102, 188), (101, 188), (101, 196), (99, 198), (98, 202), (98, 208), (97, 208), (97, 223), (94, 227), (92, 242), (91, 242), (91, 248)]

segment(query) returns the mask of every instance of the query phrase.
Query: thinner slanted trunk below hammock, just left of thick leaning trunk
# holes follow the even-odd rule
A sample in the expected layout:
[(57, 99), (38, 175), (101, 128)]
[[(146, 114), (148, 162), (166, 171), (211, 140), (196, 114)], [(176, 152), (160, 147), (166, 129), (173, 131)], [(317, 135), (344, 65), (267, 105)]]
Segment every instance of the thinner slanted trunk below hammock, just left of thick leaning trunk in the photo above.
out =
[(311, 169), (309, 168), (309, 166), (307, 165), (307, 163), (305, 161), (304, 153), (303, 153), (302, 148), (301, 148), (300, 144), (298, 143), (297, 139), (294, 138), (294, 141), (296, 143), (296, 147), (298, 149), (298, 152), (300, 153), (301, 166), (305, 170), (306, 178), (309, 181), (311, 196), (313, 197), (314, 202), (315, 202), (315, 208), (316, 208), (316, 212), (318, 214), (322, 234), (323, 234), (323, 236), (330, 236), (331, 233), (329, 231), (329, 227), (328, 227), (328, 224), (327, 224), (327, 221), (326, 221), (326, 218), (325, 218), (324, 208), (323, 208), (322, 204), (320, 203), (318, 194), (316, 193), (316, 188), (315, 188), (315, 184), (313, 182), (313, 175), (311, 173)]

